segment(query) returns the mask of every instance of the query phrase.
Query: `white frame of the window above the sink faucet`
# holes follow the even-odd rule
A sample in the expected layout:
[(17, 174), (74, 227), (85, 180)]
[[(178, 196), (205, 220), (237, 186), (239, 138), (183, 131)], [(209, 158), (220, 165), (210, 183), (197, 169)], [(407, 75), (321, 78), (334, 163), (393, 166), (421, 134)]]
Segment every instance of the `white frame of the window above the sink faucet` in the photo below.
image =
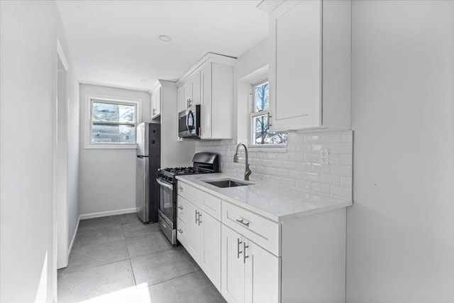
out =
[(255, 87), (258, 87), (261, 84), (264, 84), (266, 82), (269, 82), (268, 77), (265, 77), (258, 81), (250, 83), (249, 96), (250, 96), (251, 112), (249, 114), (249, 148), (256, 149), (256, 150), (257, 149), (266, 149), (266, 150), (272, 149), (272, 150), (284, 151), (284, 150), (287, 150), (287, 143), (285, 143), (285, 144), (255, 144), (255, 138), (254, 138), (254, 130), (255, 130), (254, 119), (255, 119), (255, 117), (268, 115), (268, 122), (270, 121), (270, 110), (256, 111), (257, 104), (255, 102)]

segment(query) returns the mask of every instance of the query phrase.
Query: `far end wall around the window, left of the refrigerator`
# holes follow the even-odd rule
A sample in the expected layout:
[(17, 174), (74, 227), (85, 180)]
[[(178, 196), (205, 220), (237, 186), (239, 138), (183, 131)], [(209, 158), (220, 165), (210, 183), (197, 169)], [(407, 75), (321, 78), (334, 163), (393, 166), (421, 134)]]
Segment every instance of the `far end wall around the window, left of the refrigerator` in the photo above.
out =
[(112, 97), (140, 99), (142, 121), (150, 122), (150, 94), (129, 89), (80, 84), (80, 214), (118, 211), (135, 207), (135, 148), (86, 149), (85, 97), (102, 94)]

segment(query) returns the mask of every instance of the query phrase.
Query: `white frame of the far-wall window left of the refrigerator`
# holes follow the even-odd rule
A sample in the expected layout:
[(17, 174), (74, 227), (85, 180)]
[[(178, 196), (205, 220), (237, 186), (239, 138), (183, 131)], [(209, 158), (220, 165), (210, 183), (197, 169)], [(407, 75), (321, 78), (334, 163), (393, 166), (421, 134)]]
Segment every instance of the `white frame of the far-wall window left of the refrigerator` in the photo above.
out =
[[(126, 143), (126, 142), (92, 142), (92, 128), (93, 128), (93, 102), (94, 101), (103, 101), (105, 103), (110, 104), (126, 104), (126, 105), (133, 105), (135, 107), (135, 123), (116, 123), (116, 122), (106, 122), (106, 124), (130, 124), (134, 125), (135, 127), (135, 140), (134, 143)], [(137, 148), (137, 125), (138, 123), (142, 122), (142, 108), (141, 108), (141, 101), (140, 99), (135, 98), (123, 98), (123, 97), (114, 97), (114, 96), (106, 96), (106, 95), (99, 95), (99, 94), (86, 94), (85, 95), (85, 148), (88, 149), (135, 149)]]

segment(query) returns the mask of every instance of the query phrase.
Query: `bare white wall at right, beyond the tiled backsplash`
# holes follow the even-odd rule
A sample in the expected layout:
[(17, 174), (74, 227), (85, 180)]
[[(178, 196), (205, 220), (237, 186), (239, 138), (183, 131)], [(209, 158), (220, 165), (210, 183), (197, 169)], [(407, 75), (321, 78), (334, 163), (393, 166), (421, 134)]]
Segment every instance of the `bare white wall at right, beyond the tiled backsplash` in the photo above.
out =
[(353, 1), (348, 302), (454, 301), (454, 1)]

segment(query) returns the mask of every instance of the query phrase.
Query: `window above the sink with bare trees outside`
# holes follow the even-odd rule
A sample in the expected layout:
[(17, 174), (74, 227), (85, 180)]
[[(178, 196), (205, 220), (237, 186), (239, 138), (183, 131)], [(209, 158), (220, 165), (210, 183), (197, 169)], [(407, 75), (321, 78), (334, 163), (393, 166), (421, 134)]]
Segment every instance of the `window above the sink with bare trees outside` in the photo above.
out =
[(268, 99), (268, 80), (252, 86), (253, 113), (251, 117), (251, 146), (253, 147), (285, 147), (287, 133), (270, 131)]

